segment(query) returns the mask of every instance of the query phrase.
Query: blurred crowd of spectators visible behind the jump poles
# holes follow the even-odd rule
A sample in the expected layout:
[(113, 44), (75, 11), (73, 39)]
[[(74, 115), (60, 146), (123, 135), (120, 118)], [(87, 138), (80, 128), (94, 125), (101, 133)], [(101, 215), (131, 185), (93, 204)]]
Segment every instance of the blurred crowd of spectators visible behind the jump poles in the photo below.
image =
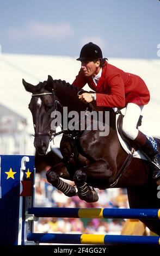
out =
[[(126, 189), (109, 188), (97, 190), (99, 201), (86, 203), (79, 197), (66, 197), (46, 180), (44, 174), (36, 174), (35, 207), (65, 208), (128, 208)], [(39, 218), (35, 222), (35, 232), (39, 233), (83, 233), (120, 234), (125, 220), (99, 218)]]

